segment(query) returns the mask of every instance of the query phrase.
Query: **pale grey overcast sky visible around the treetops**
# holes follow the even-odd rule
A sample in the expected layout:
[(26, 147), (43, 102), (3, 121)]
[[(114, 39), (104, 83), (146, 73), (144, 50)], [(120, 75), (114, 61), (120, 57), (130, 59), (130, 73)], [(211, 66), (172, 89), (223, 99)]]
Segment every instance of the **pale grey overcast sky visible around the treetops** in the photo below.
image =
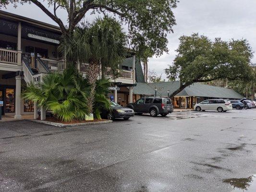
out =
[[(55, 24), (34, 5), (25, 4), (16, 9), (8, 6), (5, 11)], [(173, 12), (177, 25), (174, 26), (174, 33), (168, 35), (169, 53), (159, 58), (150, 58), (148, 63), (149, 70), (162, 73), (163, 78), (166, 77), (164, 69), (175, 58), (178, 38), (182, 35), (189, 36), (193, 32), (198, 32), (211, 39), (246, 38), (253, 50), (256, 50), (256, 0), (180, 0)], [(60, 11), (59, 17), (66, 20), (65, 11)], [(87, 15), (88, 17), (91, 18), (90, 15)], [(256, 56), (252, 62), (256, 63)]]

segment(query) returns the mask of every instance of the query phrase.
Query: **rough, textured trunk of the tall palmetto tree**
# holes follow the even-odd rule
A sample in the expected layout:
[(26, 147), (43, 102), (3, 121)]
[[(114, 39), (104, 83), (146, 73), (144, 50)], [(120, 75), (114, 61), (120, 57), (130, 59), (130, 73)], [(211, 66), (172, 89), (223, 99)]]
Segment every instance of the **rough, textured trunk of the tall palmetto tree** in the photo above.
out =
[(90, 113), (93, 113), (93, 107), (95, 102), (95, 94), (96, 94), (96, 81), (97, 81), (97, 73), (98, 73), (98, 63), (90, 62), (87, 70), (87, 80), (90, 84), (90, 94), (87, 98), (87, 105)]

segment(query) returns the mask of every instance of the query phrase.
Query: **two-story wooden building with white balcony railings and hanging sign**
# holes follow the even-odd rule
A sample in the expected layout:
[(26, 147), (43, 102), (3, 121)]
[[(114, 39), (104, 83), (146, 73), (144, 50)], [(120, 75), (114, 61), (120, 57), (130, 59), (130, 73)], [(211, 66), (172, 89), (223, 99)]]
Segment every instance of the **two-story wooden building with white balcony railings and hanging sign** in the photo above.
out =
[[(2, 114), (21, 119), (24, 114), (37, 118), (37, 106), (21, 98), (22, 84), (40, 81), (50, 71), (65, 69), (65, 58), (58, 52), (61, 30), (58, 26), (36, 21), (20, 15), (0, 11), (0, 100)], [(120, 64), (121, 76), (112, 79), (120, 91), (113, 91), (114, 100), (121, 104), (133, 100), (135, 86), (135, 57)], [(88, 64), (77, 67), (86, 75)], [(110, 71), (110, 70), (109, 70)], [(110, 74), (107, 75), (111, 77)], [(119, 94), (122, 100), (119, 100)]]

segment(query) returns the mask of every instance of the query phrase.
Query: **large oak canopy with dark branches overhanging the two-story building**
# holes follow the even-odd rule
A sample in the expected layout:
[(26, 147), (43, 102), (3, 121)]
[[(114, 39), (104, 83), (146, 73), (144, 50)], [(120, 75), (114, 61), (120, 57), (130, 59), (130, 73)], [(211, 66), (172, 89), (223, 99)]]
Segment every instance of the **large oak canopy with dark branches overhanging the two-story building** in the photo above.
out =
[[(73, 34), (75, 26), (85, 13), (114, 14), (128, 27), (128, 43), (138, 50), (145, 45), (157, 56), (167, 52), (167, 33), (172, 32), (175, 18), (172, 12), (178, 0), (45, 0), (53, 7), (45, 7), (43, 0), (0, 0), (0, 8), (9, 4), (14, 6), (32, 3), (45, 12), (61, 28), (63, 36)], [(68, 25), (58, 17), (58, 9), (68, 13)], [(85, 18), (86, 19), (86, 18)]]

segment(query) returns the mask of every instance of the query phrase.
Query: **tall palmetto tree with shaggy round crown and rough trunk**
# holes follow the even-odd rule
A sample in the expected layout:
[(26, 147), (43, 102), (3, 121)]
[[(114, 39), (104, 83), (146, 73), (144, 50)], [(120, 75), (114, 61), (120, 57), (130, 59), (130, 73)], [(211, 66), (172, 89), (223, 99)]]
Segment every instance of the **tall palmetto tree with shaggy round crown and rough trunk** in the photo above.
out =
[(106, 67), (117, 69), (126, 54), (125, 41), (121, 25), (110, 17), (98, 18), (92, 24), (81, 24), (75, 28), (73, 37), (63, 40), (61, 49), (65, 50), (67, 57), (73, 58), (73, 62), (89, 63), (86, 74), (90, 84), (87, 106), (91, 113), (100, 66), (103, 76)]

